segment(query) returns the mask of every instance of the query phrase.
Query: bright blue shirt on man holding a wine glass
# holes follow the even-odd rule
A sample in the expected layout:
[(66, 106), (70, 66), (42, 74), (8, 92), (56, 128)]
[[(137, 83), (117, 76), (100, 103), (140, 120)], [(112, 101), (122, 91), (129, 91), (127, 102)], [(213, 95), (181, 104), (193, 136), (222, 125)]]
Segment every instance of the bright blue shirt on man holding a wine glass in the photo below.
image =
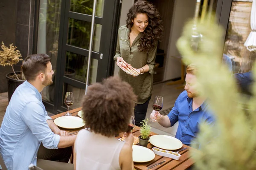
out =
[(175, 101), (172, 111), (168, 114), (171, 126), (179, 121), (175, 138), (186, 145), (190, 145), (192, 139), (196, 137), (202, 122), (206, 122), (208, 125), (213, 125), (214, 122), (214, 116), (207, 109), (206, 102), (195, 111), (192, 109), (192, 103), (193, 99), (188, 97), (186, 91), (183, 91)]

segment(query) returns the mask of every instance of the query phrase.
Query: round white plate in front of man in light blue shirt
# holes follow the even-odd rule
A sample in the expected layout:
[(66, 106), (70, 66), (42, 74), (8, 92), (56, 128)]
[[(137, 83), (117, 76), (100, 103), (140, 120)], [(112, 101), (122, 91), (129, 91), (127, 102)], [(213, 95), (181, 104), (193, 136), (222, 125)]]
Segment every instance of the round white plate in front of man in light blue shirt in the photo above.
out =
[(54, 123), (66, 129), (76, 129), (85, 125), (84, 119), (76, 116), (61, 116), (55, 119)]

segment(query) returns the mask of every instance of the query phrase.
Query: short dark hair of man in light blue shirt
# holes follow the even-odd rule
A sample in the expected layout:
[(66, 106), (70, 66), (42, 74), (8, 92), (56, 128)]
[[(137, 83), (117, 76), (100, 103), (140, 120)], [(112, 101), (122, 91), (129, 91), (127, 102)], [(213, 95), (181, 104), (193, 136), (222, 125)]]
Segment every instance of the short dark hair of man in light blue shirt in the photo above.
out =
[(39, 73), (45, 73), (51, 58), (47, 54), (33, 54), (25, 58), (22, 71), (27, 81), (35, 80)]

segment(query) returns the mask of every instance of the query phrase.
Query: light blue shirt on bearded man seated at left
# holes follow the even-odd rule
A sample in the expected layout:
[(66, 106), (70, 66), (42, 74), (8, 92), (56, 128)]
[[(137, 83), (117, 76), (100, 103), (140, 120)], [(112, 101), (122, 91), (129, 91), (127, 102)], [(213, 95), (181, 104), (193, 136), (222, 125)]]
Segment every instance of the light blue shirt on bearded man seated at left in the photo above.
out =
[(60, 136), (47, 124), (51, 119), (38, 90), (25, 81), (15, 90), (0, 128), (0, 152), (8, 170), (28, 170), (36, 165), (41, 142), (48, 149), (57, 149)]

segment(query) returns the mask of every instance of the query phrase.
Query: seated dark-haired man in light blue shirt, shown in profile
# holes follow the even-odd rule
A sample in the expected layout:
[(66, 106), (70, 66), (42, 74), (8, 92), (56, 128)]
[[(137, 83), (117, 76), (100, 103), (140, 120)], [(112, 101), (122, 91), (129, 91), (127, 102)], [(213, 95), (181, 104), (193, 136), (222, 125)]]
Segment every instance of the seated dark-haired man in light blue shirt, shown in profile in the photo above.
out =
[(40, 94), (53, 83), (50, 57), (46, 54), (26, 57), (23, 74), (26, 81), (13, 93), (0, 128), (0, 153), (7, 169), (28, 170), (29, 164), (37, 162), (45, 170), (74, 169), (73, 164), (55, 160), (69, 160), (76, 135), (68, 136), (55, 125)]

